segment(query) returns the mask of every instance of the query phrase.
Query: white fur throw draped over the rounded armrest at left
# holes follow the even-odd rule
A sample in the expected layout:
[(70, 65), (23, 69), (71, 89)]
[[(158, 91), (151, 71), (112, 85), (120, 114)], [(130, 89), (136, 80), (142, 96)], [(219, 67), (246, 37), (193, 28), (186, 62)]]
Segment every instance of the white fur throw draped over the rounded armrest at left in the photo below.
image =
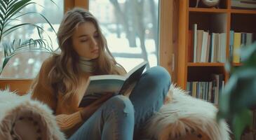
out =
[[(46, 130), (46, 139), (65, 139), (65, 135), (60, 132), (53, 112), (45, 104), (33, 101), (30, 95), (19, 96), (15, 92), (8, 90), (0, 91), (0, 139), (10, 139), (11, 121), (17, 120), (20, 111), (29, 110), (31, 114), (39, 116)], [(6, 119), (7, 118), (7, 119)]]

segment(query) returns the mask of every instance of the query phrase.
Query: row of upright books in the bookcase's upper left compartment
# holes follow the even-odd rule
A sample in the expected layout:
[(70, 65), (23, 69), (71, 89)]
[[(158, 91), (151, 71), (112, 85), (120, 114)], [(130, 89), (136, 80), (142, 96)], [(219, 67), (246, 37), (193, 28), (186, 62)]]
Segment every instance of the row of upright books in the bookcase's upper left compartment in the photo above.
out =
[[(193, 32), (189, 34), (189, 38), (193, 38), (193, 41), (189, 41), (190, 62), (224, 63), (226, 61), (226, 33), (204, 31), (202, 29), (198, 29), (196, 24), (193, 25), (193, 30), (189, 30), (189, 32)], [(191, 52), (191, 50), (194, 50), (194, 52)], [(193, 59), (190, 57), (191, 54), (193, 54)]]

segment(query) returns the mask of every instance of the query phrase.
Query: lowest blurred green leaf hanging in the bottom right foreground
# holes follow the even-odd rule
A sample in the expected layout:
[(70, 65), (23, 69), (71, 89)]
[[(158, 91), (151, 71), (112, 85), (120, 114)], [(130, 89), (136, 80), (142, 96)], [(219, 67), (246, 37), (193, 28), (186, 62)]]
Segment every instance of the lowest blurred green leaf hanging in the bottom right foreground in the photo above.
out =
[(246, 126), (252, 124), (252, 113), (248, 109), (244, 109), (240, 113), (237, 113), (233, 119), (234, 136), (236, 140), (241, 139), (241, 134)]

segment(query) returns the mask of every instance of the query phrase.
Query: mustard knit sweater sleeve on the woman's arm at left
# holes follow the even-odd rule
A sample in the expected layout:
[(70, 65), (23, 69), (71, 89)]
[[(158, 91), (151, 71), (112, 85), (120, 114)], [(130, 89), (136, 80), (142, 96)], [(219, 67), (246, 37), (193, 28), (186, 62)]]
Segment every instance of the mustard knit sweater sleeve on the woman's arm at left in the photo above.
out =
[[(58, 99), (56, 98), (53, 87), (48, 83), (48, 72), (50, 71), (52, 64), (46, 59), (43, 62), (39, 71), (38, 80), (32, 89), (32, 99), (36, 99), (43, 104), (47, 104), (50, 109), (56, 111)], [(75, 126), (81, 124), (83, 119), (81, 118), (80, 111), (72, 114), (58, 114), (56, 116), (56, 122), (60, 127), (60, 130), (67, 132), (73, 130)]]

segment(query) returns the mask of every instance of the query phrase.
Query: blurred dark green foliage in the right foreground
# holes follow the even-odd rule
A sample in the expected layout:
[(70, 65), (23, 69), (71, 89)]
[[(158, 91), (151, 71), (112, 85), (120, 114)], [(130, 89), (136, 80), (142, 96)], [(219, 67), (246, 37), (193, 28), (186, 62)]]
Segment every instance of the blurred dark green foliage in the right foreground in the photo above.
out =
[(231, 76), (220, 94), (217, 120), (229, 120), (236, 140), (241, 138), (245, 127), (252, 125), (252, 111), (256, 106), (256, 42), (241, 49), (241, 66), (225, 68)]

